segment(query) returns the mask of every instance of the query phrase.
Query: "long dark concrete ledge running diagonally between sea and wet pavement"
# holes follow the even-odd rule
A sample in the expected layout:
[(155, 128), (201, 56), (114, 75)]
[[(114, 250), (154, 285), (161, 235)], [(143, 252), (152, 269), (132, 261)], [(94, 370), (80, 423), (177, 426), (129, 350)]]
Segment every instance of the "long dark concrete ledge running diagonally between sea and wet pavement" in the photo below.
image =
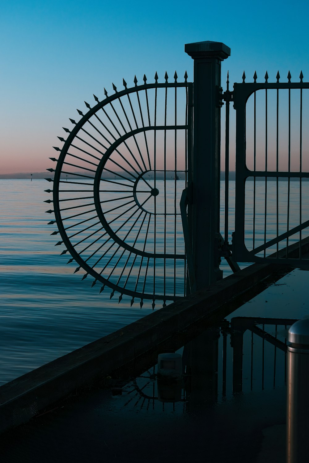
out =
[[(0, 433), (25, 423), (40, 410), (75, 392), (76, 388), (132, 362), (197, 320), (213, 318), (220, 307), (231, 304), (233, 299), (257, 286), (279, 268), (276, 264), (251, 265), (211, 288), (146, 315), (6, 383), (0, 387)], [(290, 270), (286, 268), (286, 271)], [(233, 310), (231, 308), (230, 312)]]

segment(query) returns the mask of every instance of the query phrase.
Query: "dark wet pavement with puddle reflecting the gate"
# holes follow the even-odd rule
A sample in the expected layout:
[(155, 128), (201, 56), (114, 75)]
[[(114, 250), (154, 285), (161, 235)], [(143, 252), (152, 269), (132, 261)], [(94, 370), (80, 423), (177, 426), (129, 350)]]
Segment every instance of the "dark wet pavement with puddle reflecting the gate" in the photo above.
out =
[(284, 345), (309, 314), (308, 278), (293, 271), (177, 350), (182, 380), (158, 379), (156, 365), (107, 378), (4, 435), (1, 461), (284, 462)]

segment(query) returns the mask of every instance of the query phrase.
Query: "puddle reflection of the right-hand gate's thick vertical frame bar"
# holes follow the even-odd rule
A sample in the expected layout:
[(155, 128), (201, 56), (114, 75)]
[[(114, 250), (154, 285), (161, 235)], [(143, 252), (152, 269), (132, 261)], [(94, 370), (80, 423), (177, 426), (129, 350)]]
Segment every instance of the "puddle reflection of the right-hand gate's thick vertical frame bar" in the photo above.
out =
[[(233, 393), (242, 391), (242, 348), (245, 329), (231, 320), (231, 346), (233, 347)], [(240, 323), (240, 325), (242, 325)]]

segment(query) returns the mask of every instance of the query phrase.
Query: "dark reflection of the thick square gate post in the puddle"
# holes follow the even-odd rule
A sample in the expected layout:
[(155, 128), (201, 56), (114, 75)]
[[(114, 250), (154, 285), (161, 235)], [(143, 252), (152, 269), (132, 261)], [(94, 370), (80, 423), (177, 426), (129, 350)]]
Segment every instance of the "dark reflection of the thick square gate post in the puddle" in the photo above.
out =
[(185, 346), (184, 355), (190, 352), (186, 362), (187, 372), (191, 373), (190, 407), (217, 400), (219, 337), (219, 330), (211, 328)]

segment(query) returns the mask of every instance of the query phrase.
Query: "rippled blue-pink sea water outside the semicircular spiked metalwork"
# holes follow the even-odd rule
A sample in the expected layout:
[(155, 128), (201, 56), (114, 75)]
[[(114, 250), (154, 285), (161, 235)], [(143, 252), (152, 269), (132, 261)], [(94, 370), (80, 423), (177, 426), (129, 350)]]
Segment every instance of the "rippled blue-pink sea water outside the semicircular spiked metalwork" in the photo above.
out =
[[(59, 238), (50, 236), (49, 187), (44, 180), (0, 180), (0, 384), (152, 312), (150, 303), (130, 307), (125, 296), (120, 304), (109, 300), (101, 285), (91, 288), (73, 274), (54, 246)], [(233, 197), (234, 182), (230, 190)], [(231, 202), (231, 219), (233, 212)], [(222, 269), (230, 273), (224, 261)]]

